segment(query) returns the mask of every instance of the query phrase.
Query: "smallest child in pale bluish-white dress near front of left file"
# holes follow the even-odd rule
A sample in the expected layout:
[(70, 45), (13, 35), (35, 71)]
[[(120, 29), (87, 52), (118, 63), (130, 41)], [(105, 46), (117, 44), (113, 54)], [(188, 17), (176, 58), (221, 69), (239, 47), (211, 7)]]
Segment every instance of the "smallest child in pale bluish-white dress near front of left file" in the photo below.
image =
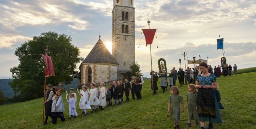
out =
[(66, 101), (69, 103), (69, 119), (71, 119), (72, 116), (74, 116), (74, 118), (76, 118), (76, 116), (78, 115), (76, 113), (76, 109), (75, 109), (75, 99), (74, 99), (75, 95), (73, 93), (69, 94), (69, 100), (66, 99)]

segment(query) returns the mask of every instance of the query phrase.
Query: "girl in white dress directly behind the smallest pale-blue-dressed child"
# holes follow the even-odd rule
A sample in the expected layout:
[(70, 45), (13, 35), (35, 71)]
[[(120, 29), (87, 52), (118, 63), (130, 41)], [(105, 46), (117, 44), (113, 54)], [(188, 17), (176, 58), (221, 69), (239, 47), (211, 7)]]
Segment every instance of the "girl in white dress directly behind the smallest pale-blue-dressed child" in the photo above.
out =
[(81, 91), (81, 93), (79, 93), (79, 95), (81, 96), (80, 102), (79, 102), (79, 107), (80, 107), (80, 109), (83, 110), (82, 114), (84, 114), (82, 117), (87, 115), (86, 109), (91, 109), (90, 103), (88, 101), (89, 93), (87, 92), (87, 89), (88, 88), (83, 85), (82, 91)]

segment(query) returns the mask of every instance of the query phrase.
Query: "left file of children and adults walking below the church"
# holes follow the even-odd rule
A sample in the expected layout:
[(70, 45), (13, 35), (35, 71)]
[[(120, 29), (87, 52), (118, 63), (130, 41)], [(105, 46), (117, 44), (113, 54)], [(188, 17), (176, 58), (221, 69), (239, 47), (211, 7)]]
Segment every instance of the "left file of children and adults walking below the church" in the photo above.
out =
[[(90, 84), (90, 90), (85, 85), (82, 86), (82, 90), (78, 91), (78, 94), (81, 96), (79, 101), (79, 108), (82, 110), (82, 117), (87, 116), (87, 109), (90, 109), (90, 112), (97, 112), (98, 109), (104, 110), (104, 106), (117, 106), (123, 103), (123, 95), (125, 94), (126, 100), (124, 103), (129, 102), (129, 94), (131, 93), (132, 99), (135, 99), (135, 96), (138, 100), (142, 99), (141, 90), (142, 84), (144, 83), (143, 78), (140, 76), (140, 73), (137, 73), (137, 76), (132, 76), (131, 82), (128, 81), (128, 78), (125, 79), (125, 82), (121, 80), (113, 81), (109, 84), (109, 87), (104, 87), (104, 82), (100, 83), (100, 86), (97, 88), (95, 83)], [(59, 84), (61, 86), (61, 84)], [(62, 95), (58, 93), (58, 90), (52, 91), (52, 86), (46, 86), (46, 100), (45, 105), (45, 121), (43, 125), (47, 125), (48, 117), (52, 118), (52, 123), (57, 123), (57, 118), (60, 118), (61, 121), (65, 121), (63, 114), (64, 104), (62, 100)], [(66, 96), (66, 102), (69, 104), (69, 117), (68, 119), (76, 118), (78, 116), (76, 112), (76, 101), (77, 95), (74, 92), (73, 88), (69, 89), (70, 93)], [(68, 97), (69, 96), (69, 97)], [(69, 100), (68, 100), (68, 98)], [(112, 102), (113, 99), (113, 102)]]

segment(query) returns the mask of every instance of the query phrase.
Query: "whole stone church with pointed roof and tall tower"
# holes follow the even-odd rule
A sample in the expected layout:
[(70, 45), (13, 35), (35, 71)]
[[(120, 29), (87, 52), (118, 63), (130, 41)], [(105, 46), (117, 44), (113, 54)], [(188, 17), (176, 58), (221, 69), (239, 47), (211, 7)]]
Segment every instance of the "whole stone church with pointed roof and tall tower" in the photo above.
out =
[(79, 85), (130, 78), (135, 61), (135, 8), (133, 0), (113, 0), (112, 55), (100, 39), (80, 64)]

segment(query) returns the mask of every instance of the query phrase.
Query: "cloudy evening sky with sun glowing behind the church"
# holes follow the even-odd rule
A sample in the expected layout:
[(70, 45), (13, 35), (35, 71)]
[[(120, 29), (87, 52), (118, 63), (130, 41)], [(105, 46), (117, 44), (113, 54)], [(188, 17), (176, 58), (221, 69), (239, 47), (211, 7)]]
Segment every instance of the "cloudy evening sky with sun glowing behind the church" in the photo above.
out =
[[(256, 66), (256, 0), (134, 0), (134, 7), (135, 61), (142, 73), (151, 71), (150, 47), (141, 35), (147, 20), (151, 29), (158, 29), (151, 45), (153, 70), (159, 58), (168, 69), (178, 69), (181, 58), (185, 68), (184, 52), (188, 60), (201, 55), (213, 67), (221, 64), (219, 35), (228, 64), (238, 69)], [(100, 33), (112, 53), (113, 0), (0, 0), (0, 10), (0, 77), (11, 76), (10, 68), (19, 64), (15, 50), (43, 32), (70, 35), (83, 58)]]

